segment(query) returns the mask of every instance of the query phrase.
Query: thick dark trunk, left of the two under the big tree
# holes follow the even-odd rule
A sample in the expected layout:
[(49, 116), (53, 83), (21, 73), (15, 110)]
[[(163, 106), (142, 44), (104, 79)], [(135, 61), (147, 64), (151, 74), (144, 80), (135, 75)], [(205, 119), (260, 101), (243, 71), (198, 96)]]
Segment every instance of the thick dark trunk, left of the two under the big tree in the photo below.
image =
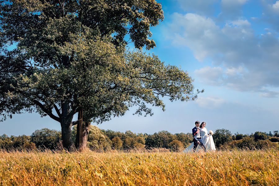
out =
[(70, 105), (68, 101), (61, 104), (61, 133), (64, 148), (70, 150), (73, 146), (72, 139), (72, 119), (73, 115), (70, 114)]

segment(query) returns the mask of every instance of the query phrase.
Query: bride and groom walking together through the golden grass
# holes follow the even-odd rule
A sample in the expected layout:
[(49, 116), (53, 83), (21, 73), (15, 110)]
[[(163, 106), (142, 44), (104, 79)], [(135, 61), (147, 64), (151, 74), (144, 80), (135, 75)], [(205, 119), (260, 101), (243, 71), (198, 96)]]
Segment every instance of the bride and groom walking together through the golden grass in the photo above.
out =
[(205, 128), (206, 122), (202, 122), (200, 125), (199, 121), (195, 122), (195, 127), (192, 129), (193, 132), (193, 143), (191, 143), (183, 152), (196, 152), (201, 148), (206, 152), (208, 150), (216, 150), (215, 144), (213, 141), (213, 132), (209, 131), (207, 134), (207, 130)]

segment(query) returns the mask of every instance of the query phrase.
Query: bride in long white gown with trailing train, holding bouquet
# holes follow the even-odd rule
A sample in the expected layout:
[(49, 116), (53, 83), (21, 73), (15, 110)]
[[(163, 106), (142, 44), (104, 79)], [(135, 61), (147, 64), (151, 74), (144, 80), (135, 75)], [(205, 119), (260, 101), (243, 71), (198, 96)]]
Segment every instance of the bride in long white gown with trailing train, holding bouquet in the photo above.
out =
[[(202, 142), (206, 146), (207, 151), (216, 150), (215, 144), (213, 141), (213, 137), (212, 137), (213, 132), (210, 131), (210, 133), (212, 133), (212, 134), (208, 135), (207, 129), (205, 128), (205, 126), (206, 126), (206, 122), (202, 122), (200, 125), (200, 134), (201, 134)], [(185, 150), (183, 152), (184, 153), (193, 152), (193, 148), (194, 148), (194, 142), (192, 142), (187, 148), (185, 148)], [(197, 147), (197, 151), (199, 151), (199, 150), (202, 150), (200, 145), (198, 145), (198, 147)]]

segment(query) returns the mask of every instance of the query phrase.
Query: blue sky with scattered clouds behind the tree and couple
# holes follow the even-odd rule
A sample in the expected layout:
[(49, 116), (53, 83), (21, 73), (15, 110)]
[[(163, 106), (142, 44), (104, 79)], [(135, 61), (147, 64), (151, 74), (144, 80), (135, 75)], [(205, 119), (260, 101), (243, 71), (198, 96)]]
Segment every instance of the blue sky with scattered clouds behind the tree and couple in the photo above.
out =
[[(164, 20), (152, 27), (156, 47), (150, 53), (180, 66), (205, 92), (195, 101), (170, 102), (165, 112), (133, 115), (97, 125), (101, 129), (153, 134), (188, 133), (196, 120), (207, 130), (234, 133), (279, 130), (279, 1), (158, 0)], [(77, 119), (77, 116), (76, 118)], [(92, 123), (94, 125), (94, 123)], [(60, 123), (38, 113), (14, 115), (0, 123), (0, 135), (31, 135)]]

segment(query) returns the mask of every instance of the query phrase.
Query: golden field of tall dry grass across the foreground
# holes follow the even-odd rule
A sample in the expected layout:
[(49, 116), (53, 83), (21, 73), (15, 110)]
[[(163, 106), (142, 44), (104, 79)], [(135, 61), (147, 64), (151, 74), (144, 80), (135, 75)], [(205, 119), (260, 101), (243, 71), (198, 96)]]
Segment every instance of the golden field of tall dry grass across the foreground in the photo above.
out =
[(279, 185), (279, 151), (5, 152), (1, 185)]

